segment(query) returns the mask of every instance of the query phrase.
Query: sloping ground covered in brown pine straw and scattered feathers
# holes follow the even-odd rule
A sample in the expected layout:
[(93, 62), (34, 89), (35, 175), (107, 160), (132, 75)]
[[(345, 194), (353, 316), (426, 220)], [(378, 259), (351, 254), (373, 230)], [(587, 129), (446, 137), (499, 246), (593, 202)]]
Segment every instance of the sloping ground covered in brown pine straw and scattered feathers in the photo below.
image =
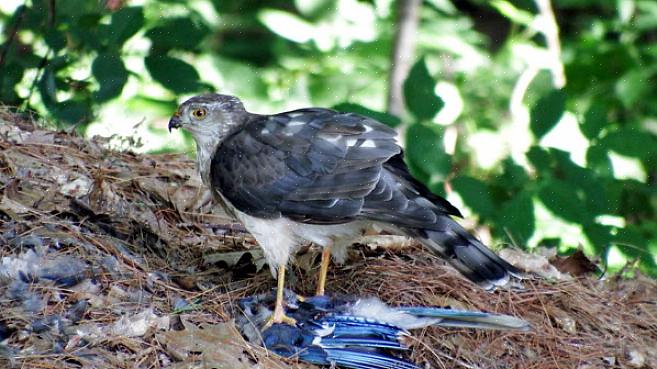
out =
[[(193, 161), (107, 144), (0, 114), (0, 367), (312, 367), (237, 333), (235, 301), (274, 280), (253, 239), (214, 209)], [(331, 268), (329, 292), (511, 314), (532, 325), (414, 331), (408, 356), (420, 366), (657, 368), (653, 280), (600, 279), (581, 258), (548, 263), (506, 250), (549, 279), (487, 293), (412, 242), (362, 243), (346, 266)], [(313, 291), (317, 251), (302, 250), (292, 270), (288, 286)]]

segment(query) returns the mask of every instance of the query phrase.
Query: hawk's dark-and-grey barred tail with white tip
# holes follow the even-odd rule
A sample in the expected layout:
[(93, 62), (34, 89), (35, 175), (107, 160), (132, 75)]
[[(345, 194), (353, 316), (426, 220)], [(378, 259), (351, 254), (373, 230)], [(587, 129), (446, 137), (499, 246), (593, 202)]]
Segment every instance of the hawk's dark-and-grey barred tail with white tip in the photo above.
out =
[(471, 281), (487, 290), (504, 286), (522, 272), (496, 255), (448, 216), (440, 217), (441, 230), (414, 229), (409, 233), (447, 260)]

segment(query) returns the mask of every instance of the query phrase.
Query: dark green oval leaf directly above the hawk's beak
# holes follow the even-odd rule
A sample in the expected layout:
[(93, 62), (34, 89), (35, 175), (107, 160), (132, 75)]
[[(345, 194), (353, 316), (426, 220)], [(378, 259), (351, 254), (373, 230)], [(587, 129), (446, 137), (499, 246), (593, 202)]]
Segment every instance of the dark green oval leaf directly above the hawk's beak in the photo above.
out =
[(193, 66), (170, 56), (147, 56), (146, 69), (154, 80), (176, 94), (200, 89), (199, 74)]

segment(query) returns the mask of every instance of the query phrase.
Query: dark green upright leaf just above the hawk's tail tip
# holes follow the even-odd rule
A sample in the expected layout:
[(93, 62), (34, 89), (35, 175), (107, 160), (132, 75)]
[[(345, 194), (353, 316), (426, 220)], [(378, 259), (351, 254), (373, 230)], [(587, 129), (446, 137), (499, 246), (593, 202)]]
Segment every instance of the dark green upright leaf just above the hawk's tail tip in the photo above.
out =
[(534, 234), (536, 226), (531, 194), (526, 191), (521, 192), (505, 203), (496, 223), (500, 228), (500, 236), (506, 237), (508, 234), (522, 246)]

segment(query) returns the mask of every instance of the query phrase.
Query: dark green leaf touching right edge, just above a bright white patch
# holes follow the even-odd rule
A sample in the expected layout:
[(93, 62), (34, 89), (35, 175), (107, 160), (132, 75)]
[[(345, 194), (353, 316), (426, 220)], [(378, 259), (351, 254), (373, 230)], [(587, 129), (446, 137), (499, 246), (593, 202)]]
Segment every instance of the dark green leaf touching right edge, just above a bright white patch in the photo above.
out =
[(646, 159), (657, 152), (657, 140), (637, 128), (622, 128), (606, 135), (602, 146), (621, 155)]

